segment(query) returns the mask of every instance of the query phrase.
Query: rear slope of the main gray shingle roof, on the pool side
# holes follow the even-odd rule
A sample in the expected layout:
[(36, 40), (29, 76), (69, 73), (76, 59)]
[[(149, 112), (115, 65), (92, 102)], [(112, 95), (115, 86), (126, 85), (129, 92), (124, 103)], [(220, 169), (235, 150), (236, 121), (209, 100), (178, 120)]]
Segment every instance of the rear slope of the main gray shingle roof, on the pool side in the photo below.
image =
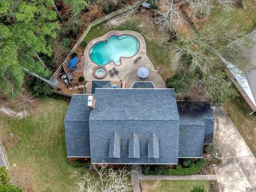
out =
[(179, 119), (173, 89), (96, 89), (90, 120)]

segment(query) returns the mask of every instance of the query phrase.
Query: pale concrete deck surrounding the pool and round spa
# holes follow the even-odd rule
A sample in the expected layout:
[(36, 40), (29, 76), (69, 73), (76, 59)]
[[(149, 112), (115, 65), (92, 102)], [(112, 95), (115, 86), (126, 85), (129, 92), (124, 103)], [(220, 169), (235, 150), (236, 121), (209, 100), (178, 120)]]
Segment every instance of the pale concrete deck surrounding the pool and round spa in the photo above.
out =
[[(102, 79), (98, 79), (93, 76), (93, 69), (95, 67), (98, 67), (98, 65), (91, 61), (89, 51), (90, 51), (92, 45), (94, 45), (95, 43), (97, 43), (99, 41), (105, 41), (105, 39), (108, 38), (109, 36), (117, 35), (117, 34), (119, 36), (132, 35), (132, 36), (136, 37), (140, 43), (140, 49), (133, 57), (121, 58), (122, 63), (119, 66), (115, 65), (113, 61), (111, 61), (110, 63), (105, 65), (107, 70), (113, 69), (115, 67), (119, 71), (119, 73), (117, 75), (114, 75), (113, 77), (111, 77), (108, 73), (106, 77), (104, 77)], [(141, 59), (137, 63), (134, 63), (134, 60), (136, 58), (138, 58), (139, 56), (141, 56)], [(146, 67), (151, 71), (155, 71), (155, 68), (154, 68), (153, 64), (151, 63), (151, 61), (149, 60), (147, 53), (146, 53), (146, 42), (145, 42), (144, 37), (141, 34), (135, 32), (135, 31), (131, 31), (131, 30), (122, 30), (122, 31), (111, 30), (108, 33), (106, 33), (105, 35), (93, 39), (93, 41), (91, 41), (84, 50), (84, 58), (85, 58), (84, 78), (87, 81), (97, 81), (97, 80), (98, 81), (99, 80), (119, 81), (121, 79), (125, 79), (125, 76), (127, 74), (131, 73), (131, 71), (134, 71), (134, 70), (137, 71), (137, 69), (140, 67)], [(134, 81), (138, 81), (138, 80), (134, 79)]]

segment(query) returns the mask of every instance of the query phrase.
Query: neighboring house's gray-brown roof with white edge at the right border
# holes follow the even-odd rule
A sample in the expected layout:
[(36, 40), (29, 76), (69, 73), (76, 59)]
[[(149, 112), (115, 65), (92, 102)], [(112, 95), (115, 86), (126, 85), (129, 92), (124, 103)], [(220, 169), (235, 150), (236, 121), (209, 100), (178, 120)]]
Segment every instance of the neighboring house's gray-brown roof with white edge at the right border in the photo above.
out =
[(223, 48), (221, 59), (243, 90), (245, 100), (256, 110), (256, 30)]

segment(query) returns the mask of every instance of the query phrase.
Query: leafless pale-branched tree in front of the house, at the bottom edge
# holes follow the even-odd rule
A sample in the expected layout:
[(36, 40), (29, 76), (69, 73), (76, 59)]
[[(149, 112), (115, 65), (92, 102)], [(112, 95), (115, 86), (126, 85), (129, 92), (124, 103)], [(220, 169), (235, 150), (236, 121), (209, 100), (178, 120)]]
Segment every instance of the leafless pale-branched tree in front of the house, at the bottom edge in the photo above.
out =
[(86, 173), (77, 183), (78, 192), (126, 192), (132, 190), (132, 183), (126, 168), (114, 170), (112, 167), (107, 168), (106, 164), (102, 164), (100, 168), (95, 167), (95, 170), (99, 178), (95, 179), (90, 173)]

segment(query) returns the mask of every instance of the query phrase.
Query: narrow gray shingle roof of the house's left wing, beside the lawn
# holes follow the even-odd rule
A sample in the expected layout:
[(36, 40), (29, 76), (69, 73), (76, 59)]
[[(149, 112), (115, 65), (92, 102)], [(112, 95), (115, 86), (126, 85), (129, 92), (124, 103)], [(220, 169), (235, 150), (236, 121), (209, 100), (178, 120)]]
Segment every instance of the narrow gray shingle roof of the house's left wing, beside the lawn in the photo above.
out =
[(90, 157), (87, 94), (73, 94), (64, 120), (67, 157)]

